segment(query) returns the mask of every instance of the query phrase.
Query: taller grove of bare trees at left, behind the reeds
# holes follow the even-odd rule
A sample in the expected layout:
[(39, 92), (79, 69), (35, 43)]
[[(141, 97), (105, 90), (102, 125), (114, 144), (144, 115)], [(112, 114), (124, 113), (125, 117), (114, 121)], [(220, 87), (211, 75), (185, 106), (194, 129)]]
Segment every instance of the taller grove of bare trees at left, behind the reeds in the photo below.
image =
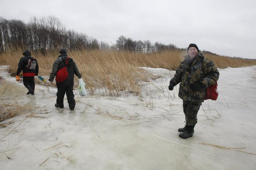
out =
[(85, 33), (66, 29), (54, 16), (40, 19), (32, 17), (27, 24), (21, 20), (0, 17), (0, 52), (18, 47), (45, 52), (60, 47), (99, 49), (99, 43)]

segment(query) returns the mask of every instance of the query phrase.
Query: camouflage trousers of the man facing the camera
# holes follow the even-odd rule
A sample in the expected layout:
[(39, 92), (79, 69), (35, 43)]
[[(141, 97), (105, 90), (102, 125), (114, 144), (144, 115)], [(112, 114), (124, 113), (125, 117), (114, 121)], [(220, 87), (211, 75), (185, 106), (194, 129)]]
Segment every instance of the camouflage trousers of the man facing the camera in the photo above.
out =
[(195, 126), (197, 123), (197, 113), (202, 102), (191, 102), (183, 100), (183, 112), (186, 117), (186, 125)]

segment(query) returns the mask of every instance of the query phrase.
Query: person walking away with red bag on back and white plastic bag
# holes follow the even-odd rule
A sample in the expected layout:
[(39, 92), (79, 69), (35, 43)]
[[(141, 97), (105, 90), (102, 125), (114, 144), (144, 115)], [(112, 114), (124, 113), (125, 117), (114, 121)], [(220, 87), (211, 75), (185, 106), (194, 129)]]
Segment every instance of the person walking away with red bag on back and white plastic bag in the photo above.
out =
[[(57, 72), (61, 69), (63, 69), (66, 66), (66, 70), (68, 72), (68, 76), (66, 79), (62, 82), (58, 82), (57, 80)], [(57, 85), (57, 100), (55, 107), (57, 108), (64, 108), (64, 95), (66, 93), (69, 109), (74, 110), (76, 101), (74, 100), (74, 94), (73, 94), (73, 86), (74, 86), (74, 74), (81, 78), (81, 73), (79, 72), (79, 69), (74, 62), (74, 60), (70, 57), (68, 57), (67, 52), (65, 49), (60, 50), (60, 56), (56, 59), (56, 61), (53, 63), (53, 69), (50, 74), (49, 81), (51, 84), (53, 84), (54, 77), (56, 77), (56, 85)]]

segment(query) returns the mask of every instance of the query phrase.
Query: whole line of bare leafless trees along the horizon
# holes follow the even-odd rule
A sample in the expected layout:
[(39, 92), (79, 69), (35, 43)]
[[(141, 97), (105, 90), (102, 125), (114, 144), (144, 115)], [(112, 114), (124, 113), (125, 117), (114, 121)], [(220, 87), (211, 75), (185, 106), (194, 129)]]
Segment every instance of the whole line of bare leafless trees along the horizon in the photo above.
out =
[[(112, 43), (112, 42), (111, 42)], [(27, 48), (45, 53), (46, 50), (59, 48), (130, 51), (140, 53), (160, 52), (162, 50), (178, 49), (173, 44), (151, 43), (149, 40), (134, 41), (125, 36), (109, 45), (85, 33), (78, 33), (67, 29), (61, 21), (54, 16), (32, 17), (28, 23), (21, 20), (7, 20), (0, 17), (0, 53), (7, 49)]]

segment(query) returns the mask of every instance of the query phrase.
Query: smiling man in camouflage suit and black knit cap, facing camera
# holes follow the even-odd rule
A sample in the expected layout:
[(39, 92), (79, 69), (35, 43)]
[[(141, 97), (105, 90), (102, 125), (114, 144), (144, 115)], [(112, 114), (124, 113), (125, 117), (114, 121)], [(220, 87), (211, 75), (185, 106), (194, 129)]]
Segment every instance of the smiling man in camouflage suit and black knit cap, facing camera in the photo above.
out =
[(170, 81), (169, 90), (180, 83), (179, 97), (183, 100), (186, 126), (179, 128), (181, 138), (192, 137), (197, 123), (196, 115), (204, 101), (207, 87), (217, 83), (219, 72), (214, 63), (204, 57), (196, 44), (188, 46), (188, 55), (181, 62)]

